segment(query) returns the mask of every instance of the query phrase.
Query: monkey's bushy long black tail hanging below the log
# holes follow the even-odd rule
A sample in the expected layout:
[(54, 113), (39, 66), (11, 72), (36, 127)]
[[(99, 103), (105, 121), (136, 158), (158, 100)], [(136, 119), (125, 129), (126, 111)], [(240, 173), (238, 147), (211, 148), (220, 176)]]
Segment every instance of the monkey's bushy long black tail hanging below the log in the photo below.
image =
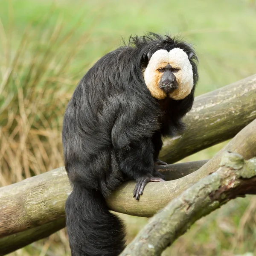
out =
[(125, 247), (124, 226), (101, 193), (74, 186), (65, 205), (72, 256), (117, 256)]

